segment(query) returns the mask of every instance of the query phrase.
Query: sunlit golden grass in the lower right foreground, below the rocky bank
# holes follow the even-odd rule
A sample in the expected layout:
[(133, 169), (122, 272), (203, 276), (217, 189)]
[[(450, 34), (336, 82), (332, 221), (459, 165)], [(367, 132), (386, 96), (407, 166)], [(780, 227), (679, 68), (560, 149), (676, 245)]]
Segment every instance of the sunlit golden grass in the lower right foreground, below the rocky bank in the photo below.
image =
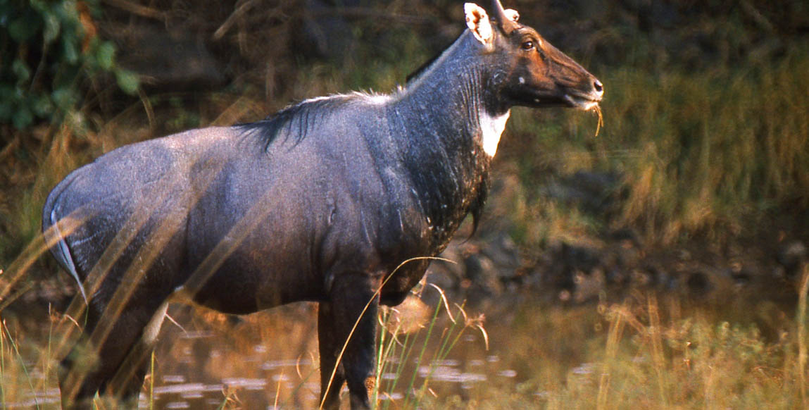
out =
[(533, 323), (515, 322), (515, 340), (498, 346), (525, 363), (527, 380), (481, 385), (468, 397), (438, 397), (423, 408), (806, 408), (804, 310), (773, 340), (752, 322), (722, 319), (730, 312), (717, 306), (688, 307), (654, 294), (552, 307), (537, 311)]

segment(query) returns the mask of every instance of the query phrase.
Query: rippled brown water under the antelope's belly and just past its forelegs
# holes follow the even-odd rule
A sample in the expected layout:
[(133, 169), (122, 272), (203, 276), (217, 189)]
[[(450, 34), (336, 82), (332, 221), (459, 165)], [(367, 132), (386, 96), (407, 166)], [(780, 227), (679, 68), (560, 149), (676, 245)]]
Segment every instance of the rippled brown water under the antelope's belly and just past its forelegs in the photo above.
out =
[[(226, 402), (241, 408), (318, 408), (315, 305), (282, 306), (238, 320), (183, 306), (172, 306), (169, 315), (182, 328), (168, 321), (163, 325), (154, 388), (147, 380), (140, 408), (149, 408), (150, 401), (155, 408), (219, 408)], [(434, 344), (425, 357), (432, 357), (437, 339)], [(393, 357), (386, 369), (395, 370), (396, 361)], [(396, 388), (387, 388), (396, 374), (383, 372), (379, 400), (403, 403), (412, 378), (415, 387), (429, 378), (433, 391), (448, 394), (519, 379), (519, 373), (487, 352), (481, 333), (468, 328), (443, 360), (417, 363), (410, 358)]]

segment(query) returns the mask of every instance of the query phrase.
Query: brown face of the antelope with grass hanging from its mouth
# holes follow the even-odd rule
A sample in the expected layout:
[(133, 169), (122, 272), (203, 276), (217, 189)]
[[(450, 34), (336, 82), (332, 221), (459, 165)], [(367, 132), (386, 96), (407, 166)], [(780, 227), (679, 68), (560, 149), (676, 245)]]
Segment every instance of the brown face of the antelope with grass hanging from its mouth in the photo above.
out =
[(515, 105), (591, 109), (599, 104), (604, 86), (592, 74), (545, 41), (533, 28), (515, 24), (506, 34), (498, 30), (500, 58), (505, 66), (502, 93)]

